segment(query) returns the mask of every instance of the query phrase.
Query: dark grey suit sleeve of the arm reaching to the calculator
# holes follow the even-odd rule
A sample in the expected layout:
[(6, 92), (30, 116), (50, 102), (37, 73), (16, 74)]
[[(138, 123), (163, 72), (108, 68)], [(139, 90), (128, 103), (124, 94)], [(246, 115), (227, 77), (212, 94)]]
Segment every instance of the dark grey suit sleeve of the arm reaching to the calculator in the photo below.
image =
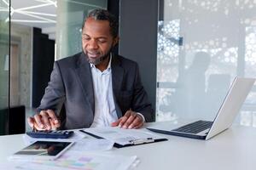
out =
[(60, 67), (57, 62), (54, 63), (53, 71), (50, 75), (50, 81), (45, 88), (44, 96), (37, 111), (53, 110), (58, 113), (65, 100), (65, 87), (61, 77)]

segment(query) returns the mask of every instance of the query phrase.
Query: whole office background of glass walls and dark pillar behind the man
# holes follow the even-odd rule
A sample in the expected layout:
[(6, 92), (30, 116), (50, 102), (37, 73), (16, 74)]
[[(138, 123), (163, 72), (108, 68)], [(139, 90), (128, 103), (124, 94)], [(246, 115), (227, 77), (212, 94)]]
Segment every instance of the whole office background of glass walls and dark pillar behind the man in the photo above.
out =
[[(212, 119), (234, 77), (256, 77), (253, 0), (0, 0), (1, 134), (24, 132), (93, 8), (119, 18), (115, 52), (138, 62), (156, 121)], [(255, 103), (253, 88), (236, 123), (256, 126)]]

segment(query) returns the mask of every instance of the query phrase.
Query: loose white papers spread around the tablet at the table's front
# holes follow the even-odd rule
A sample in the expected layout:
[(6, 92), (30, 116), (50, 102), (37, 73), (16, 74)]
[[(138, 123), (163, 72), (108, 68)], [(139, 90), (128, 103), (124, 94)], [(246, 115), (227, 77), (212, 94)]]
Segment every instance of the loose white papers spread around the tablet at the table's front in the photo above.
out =
[[(103, 128), (102, 128), (103, 129)], [(75, 142), (67, 151), (54, 161), (47, 161), (39, 158), (32, 160), (24, 159), (23, 161), (7, 161), (0, 163), (0, 169), (24, 169), (24, 170), (106, 170), (117, 169), (127, 170), (135, 167), (138, 163), (137, 156), (119, 156), (110, 154), (104, 150), (113, 148), (113, 141), (108, 139), (86, 138), (87, 134), (76, 132), (73, 139), (32, 139), (27, 135), (24, 136), (26, 144), (36, 140), (69, 140)], [(85, 138), (84, 138), (85, 137)]]

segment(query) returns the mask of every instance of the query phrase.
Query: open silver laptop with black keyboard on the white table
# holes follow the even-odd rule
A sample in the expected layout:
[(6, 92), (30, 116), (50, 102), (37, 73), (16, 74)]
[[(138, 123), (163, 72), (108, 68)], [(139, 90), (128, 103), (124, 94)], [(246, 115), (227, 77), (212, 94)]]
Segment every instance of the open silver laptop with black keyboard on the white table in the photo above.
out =
[(211, 139), (232, 125), (241, 105), (247, 98), (247, 94), (253, 88), (255, 78), (236, 77), (232, 82), (228, 94), (225, 96), (218, 114), (213, 122), (196, 121), (182, 125), (181, 127), (148, 127), (155, 133), (164, 133), (192, 139)]

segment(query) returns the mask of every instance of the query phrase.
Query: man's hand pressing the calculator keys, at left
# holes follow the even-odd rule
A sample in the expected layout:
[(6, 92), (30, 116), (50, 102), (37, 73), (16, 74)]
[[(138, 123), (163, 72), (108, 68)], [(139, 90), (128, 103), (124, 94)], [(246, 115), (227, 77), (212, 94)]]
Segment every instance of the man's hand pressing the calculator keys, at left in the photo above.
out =
[(61, 127), (60, 120), (52, 110), (40, 111), (40, 113), (28, 117), (27, 122), (35, 130), (55, 130)]

